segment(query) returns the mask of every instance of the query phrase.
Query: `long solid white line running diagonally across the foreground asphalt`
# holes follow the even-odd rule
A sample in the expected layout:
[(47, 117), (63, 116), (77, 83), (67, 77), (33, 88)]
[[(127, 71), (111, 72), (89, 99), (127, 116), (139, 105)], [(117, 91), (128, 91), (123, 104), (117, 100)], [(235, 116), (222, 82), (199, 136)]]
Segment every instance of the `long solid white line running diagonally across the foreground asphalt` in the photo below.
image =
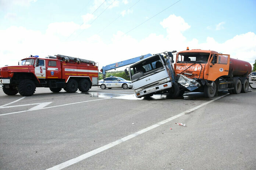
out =
[[(107, 145), (104, 145), (104, 146), (102, 146), (102, 147), (99, 147), (99, 148), (97, 148), (97, 149), (94, 149), (94, 150), (92, 150), (92, 151), (90, 151), (90, 152), (87, 152), (87, 153), (85, 153), (85, 154), (83, 154), (83, 155), (78, 156), (77, 158), (70, 159), (70, 160), (68, 160), (68, 161), (66, 161), (66, 162), (63, 162), (63, 163), (59, 164), (59, 165), (53, 166), (53, 167), (51, 167), (51, 168), (49, 168), (49, 169), (47, 169), (47, 170), (60, 170), (60, 169), (63, 169), (63, 168), (65, 168), (65, 167), (68, 167), (68, 166), (70, 166), (70, 165), (73, 165), (73, 164), (75, 164), (75, 163), (77, 163), (77, 162), (79, 162), (79, 161), (81, 161), (81, 160), (84, 160), (84, 159), (86, 159), (86, 158), (89, 158), (90, 156), (96, 155), (96, 154), (98, 154), (98, 153), (100, 153), (100, 152), (102, 152), (102, 151), (105, 151), (105, 150), (107, 150), (107, 149), (109, 149), (109, 148), (112, 148), (112, 147), (114, 147), (115, 145), (118, 145), (118, 144), (120, 144), (120, 143), (123, 143), (124, 141), (127, 141), (127, 140), (129, 140), (129, 139), (131, 139), (131, 138), (134, 138), (134, 137), (138, 136), (139, 134), (142, 134), (142, 133), (145, 133), (145, 132), (147, 132), (147, 131), (149, 131), (149, 130), (152, 130), (152, 129), (154, 129), (154, 128), (160, 126), (160, 125), (163, 125), (164, 123), (170, 122), (170, 121), (172, 121), (173, 119), (176, 119), (176, 118), (178, 118), (178, 117), (181, 117), (182, 115), (185, 115), (186, 113), (192, 112), (192, 111), (194, 111), (194, 110), (196, 110), (196, 109), (198, 109), (198, 108), (200, 108), (200, 107), (205, 106), (206, 104), (209, 104), (209, 103), (211, 103), (211, 102), (213, 102), (213, 101), (215, 101), (215, 100), (218, 100), (218, 99), (220, 99), (221, 97), (224, 97), (224, 96), (227, 96), (227, 95), (228, 95), (228, 94), (223, 95), (223, 96), (220, 96), (220, 97), (217, 97), (217, 98), (215, 98), (215, 99), (213, 99), (213, 100), (207, 101), (206, 103), (200, 104), (199, 106), (196, 106), (196, 107), (194, 107), (194, 108), (191, 108), (191, 109), (189, 109), (189, 110), (186, 110), (186, 111), (184, 111), (184, 112), (182, 112), (182, 113), (180, 113), (180, 114), (178, 114), (178, 115), (175, 115), (175, 116), (173, 116), (173, 117), (171, 117), (171, 118), (168, 118), (168, 119), (166, 119), (166, 120), (164, 120), (164, 121), (161, 121), (161, 122), (159, 122), (159, 123), (156, 123), (156, 124), (154, 124), (154, 125), (152, 125), (152, 126), (149, 126), (149, 127), (145, 128), (145, 129), (142, 129), (142, 130), (140, 130), (140, 131), (138, 131), (138, 132), (135, 132), (135, 133), (133, 133), (133, 134), (130, 134), (130, 135), (126, 136), (126, 137), (123, 137), (123, 138), (121, 138), (121, 139), (118, 139), (118, 140), (116, 140), (116, 141), (114, 141), (114, 142), (112, 142), (112, 143), (109, 143), (109, 144), (107, 144)], [(111, 98), (110, 98), (110, 99), (111, 99)]]

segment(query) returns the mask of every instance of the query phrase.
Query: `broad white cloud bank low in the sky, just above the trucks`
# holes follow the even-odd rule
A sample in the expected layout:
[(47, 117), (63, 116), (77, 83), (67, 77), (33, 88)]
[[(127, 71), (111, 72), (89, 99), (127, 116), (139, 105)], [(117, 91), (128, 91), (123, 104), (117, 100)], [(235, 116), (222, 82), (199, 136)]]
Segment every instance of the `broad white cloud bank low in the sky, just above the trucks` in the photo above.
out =
[[(167, 36), (151, 33), (138, 41), (135, 37), (123, 35), (123, 32), (118, 31), (112, 36), (109, 44), (106, 44), (99, 35), (92, 35), (83, 41), (71, 41), (72, 38), (61, 41), (60, 36), (67, 36), (79, 27), (73, 22), (51, 23), (45, 34), (24, 27), (9, 27), (6, 30), (0, 30), (0, 56), (2, 56), (0, 65), (17, 64), (18, 60), (29, 55), (45, 57), (59, 53), (93, 60), (98, 62), (101, 68), (107, 64), (147, 53), (183, 51), (186, 47), (227, 53), (231, 58), (249, 63), (254, 63), (256, 59), (256, 35), (253, 32), (237, 35), (223, 43), (218, 43), (213, 37), (206, 37), (204, 43), (199, 43), (196, 37), (192, 40), (184, 37), (182, 33), (191, 26), (180, 16), (170, 15), (160, 24), (166, 29)], [(99, 52), (96, 53), (97, 51)]]

